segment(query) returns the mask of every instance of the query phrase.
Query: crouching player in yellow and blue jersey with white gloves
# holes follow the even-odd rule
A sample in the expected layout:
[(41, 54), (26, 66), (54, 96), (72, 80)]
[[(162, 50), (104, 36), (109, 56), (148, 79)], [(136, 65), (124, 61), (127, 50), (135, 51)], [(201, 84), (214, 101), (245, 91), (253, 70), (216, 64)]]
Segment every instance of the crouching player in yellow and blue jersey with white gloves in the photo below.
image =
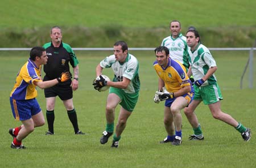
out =
[[(194, 92), (192, 83), (183, 64), (170, 58), (168, 48), (159, 46), (155, 49), (155, 55), (154, 68), (159, 80), (158, 91), (155, 93), (154, 101), (159, 103), (166, 100), (164, 126), (168, 134), (166, 139), (160, 143), (171, 142), (172, 145), (180, 145), (182, 142), (180, 110), (184, 109), (192, 101)], [(164, 91), (164, 87), (166, 91)]]

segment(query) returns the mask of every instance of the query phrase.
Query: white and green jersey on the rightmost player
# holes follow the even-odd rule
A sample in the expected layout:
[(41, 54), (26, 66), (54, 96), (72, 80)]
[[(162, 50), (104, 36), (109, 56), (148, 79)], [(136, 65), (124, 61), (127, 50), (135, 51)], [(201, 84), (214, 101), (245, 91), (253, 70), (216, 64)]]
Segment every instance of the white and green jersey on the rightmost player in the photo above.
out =
[[(191, 51), (191, 49), (188, 49), (189, 53), (189, 64), (191, 66), (192, 75), (195, 80), (200, 80), (202, 77), (207, 74), (207, 71), (210, 67), (216, 67), (216, 62), (212, 57), (212, 54), (210, 54), (210, 51), (206, 46), (203, 44), (198, 44), (196, 46), (195, 51)], [(209, 85), (216, 83), (217, 79), (215, 75), (209, 77), (207, 81), (204, 82), (202, 86)]]

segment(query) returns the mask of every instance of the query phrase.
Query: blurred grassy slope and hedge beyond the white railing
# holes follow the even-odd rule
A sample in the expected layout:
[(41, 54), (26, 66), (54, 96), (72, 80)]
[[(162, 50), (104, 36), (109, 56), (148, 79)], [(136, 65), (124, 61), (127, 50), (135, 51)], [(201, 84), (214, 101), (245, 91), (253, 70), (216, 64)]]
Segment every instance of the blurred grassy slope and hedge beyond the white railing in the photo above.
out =
[(170, 35), (170, 20), (183, 33), (197, 27), (210, 47), (251, 47), (256, 37), (255, 1), (3, 1), (0, 48), (32, 47), (49, 41), (53, 25), (63, 27), (72, 47), (155, 47)]

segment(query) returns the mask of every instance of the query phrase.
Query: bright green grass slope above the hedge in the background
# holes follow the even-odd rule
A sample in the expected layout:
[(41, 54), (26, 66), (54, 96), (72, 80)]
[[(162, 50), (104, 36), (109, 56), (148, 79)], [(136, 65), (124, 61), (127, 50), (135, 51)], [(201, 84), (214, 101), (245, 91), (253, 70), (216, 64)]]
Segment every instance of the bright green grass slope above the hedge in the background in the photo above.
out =
[(179, 19), (184, 27), (255, 25), (255, 1), (2, 1), (1, 28), (162, 27)]

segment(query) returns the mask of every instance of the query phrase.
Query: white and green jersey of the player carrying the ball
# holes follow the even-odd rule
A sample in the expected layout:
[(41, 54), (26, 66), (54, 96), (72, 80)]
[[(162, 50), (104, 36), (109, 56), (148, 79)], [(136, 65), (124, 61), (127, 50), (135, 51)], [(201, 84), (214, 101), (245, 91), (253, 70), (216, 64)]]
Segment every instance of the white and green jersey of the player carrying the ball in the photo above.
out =
[(125, 62), (121, 63), (115, 60), (115, 55), (110, 55), (100, 62), (102, 68), (112, 67), (114, 71), (113, 81), (122, 81), (123, 77), (130, 79), (131, 82), (126, 89), (123, 89), (126, 93), (138, 93), (141, 87), (139, 81), (139, 62), (131, 54), (127, 54)]

